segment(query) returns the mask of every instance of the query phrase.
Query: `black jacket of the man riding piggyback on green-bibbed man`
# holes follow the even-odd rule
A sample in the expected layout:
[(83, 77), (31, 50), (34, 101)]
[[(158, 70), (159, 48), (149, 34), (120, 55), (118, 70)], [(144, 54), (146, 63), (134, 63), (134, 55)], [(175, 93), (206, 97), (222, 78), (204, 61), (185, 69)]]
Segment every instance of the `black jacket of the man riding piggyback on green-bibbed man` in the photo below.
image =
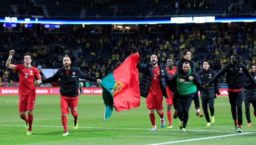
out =
[[(185, 75), (184, 71), (182, 69), (182, 65), (185, 61), (188, 61), (190, 66), (191, 66), (191, 73), (189, 75)], [(177, 61), (176, 64), (176, 72), (178, 74), (178, 76), (184, 78), (186, 81), (189, 80), (189, 76), (194, 77), (195, 76), (195, 62), (193, 60), (186, 60), (185, 58), (182, 58), (180, 60)]]

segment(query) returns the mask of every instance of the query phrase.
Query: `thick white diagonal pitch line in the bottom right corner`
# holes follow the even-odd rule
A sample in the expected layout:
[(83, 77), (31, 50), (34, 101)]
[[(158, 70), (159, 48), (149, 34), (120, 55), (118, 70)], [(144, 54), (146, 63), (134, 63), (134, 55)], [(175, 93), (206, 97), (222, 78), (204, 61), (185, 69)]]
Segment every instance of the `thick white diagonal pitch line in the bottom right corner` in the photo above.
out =
[(228, 134), (228, 135), (222, 135), (222, 136), (211, 136), (211, 137), (203, 137), (203, 138), (197, 138), (197, 139), (180, 140), (180, 141), (172, 141), (172, 142), (165, 142), (165, 143), (147, 144), (147, 145), (161, 145), (161, 144), (170, 144), (170, 143), (181, 143), (181, 142), (188, 142), (188, 141), (195, 141), (195, 140), (206, 140), (206, 139), (212, 139), (212, 138), (227, 137), (227, 136), (236, 136), (236, 135), (244, 135), (244, 134), (251, 134), (251, 133), (256, 133), (256, 132), (246, 132), (246, 133)]

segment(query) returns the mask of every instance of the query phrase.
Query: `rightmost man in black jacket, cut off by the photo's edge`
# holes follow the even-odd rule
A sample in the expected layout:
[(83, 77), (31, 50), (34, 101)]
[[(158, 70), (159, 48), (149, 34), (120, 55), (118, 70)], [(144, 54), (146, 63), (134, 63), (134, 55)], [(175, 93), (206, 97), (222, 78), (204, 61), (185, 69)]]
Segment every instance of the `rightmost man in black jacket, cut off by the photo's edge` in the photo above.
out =
[[(249, 72), (251, 76), (256, 79), (256, 68), (254, 64), (248, 65)], [(254, 108), (254, 112), (252, 113), (256, 118), (256, 86), (253, 85), (249, 79), (244, 76), (244, 105), (245, 105), (245, 115), (248, 122), (247, 126), (251, 126), (251, 117), (250, 117), (250, 104), (252, 104)]]

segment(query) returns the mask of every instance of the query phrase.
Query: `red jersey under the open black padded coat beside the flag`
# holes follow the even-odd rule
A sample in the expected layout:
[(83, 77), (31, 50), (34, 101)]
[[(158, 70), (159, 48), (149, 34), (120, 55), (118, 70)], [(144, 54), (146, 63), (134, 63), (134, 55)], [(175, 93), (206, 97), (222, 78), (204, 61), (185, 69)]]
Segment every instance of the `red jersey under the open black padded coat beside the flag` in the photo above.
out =
[(159, 94), (162, 93), (160, 87), (160, 67), (153, 67), (153, 76), (151, 80), (151, 85), (149, 88), (149, 93)]

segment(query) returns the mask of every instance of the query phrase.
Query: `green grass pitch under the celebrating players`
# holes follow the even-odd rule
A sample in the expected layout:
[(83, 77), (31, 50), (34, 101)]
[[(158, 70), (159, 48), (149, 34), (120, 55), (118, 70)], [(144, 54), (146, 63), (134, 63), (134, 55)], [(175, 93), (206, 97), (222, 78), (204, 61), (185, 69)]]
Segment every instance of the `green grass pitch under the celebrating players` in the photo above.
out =
[[(254, 144), (256, 119), (252, 115), (252, 126), (247, 126), (243, 104), (243, 133), (234, 131), (228, 97), (215, 99), (215, 123), (206, 126), (205, 117), (195, 115), (192, 102), (187, 123), (187, 133), (181, 133), (179, 120), (172, 119), (173, 129), (167, 129), (168, 119), (164, 100), (165, 127), (160, 126), (160, 117), (156, 116), (157, 131), (152, 128), (145, 98), (141, 97), (140, 107), (116, 112), (104, 122), (105, 106), (101, 95), (79, 95), (78, 129), (73, 129), (73, 117), (67, 115), (69, 136), (62, 136), (60, 95), (37, 95), (33, 110), (32, 135), (26, 135), (25, 121), (18, 112), (18, 95), (1, 95), (0, 144)], [(202, 108), (201, 108), (202, 111)], [(174, 109), (172, 108), (172, 113)], [(203, 112), (203, 111), (202, 111)]]

